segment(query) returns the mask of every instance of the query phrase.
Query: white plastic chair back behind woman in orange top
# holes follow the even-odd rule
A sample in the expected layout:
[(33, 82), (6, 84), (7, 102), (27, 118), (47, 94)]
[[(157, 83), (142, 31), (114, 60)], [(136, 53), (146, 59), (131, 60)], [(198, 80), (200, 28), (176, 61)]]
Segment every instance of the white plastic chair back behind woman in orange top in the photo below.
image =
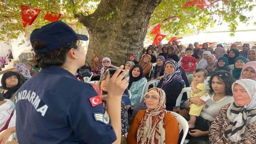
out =
[(177, 113), (171, 112), (171, 111), (168, 111), (168, 112), (171, 113), (173, 116), (175, 116), (176, 120), (178, 121), (180, 133), (181, 133), (181, 130), (183, 130), (183, 136), (182, 136), (182, 139), (181, 139), (181, 144), (183, 144), (184, 141), (185, 141), (185, 138), (187, 136), (187, 133), (188, 133), (188, 122), (180, 114), (177, 114)]

